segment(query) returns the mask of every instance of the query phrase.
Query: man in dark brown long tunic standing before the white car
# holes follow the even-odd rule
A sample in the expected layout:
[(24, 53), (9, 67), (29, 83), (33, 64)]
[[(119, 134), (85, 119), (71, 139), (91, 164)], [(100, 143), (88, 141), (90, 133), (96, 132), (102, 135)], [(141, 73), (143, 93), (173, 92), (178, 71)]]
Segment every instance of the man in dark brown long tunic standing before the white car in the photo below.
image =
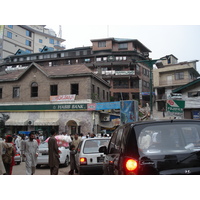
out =
[(48, 148), (49, 148), (49, 166), (50, 166), (50, 174), (58, 175), (58, 169), (60, 164), (60, 155), (57, 140), (55, 138), (56, 131), (54, 129), (51, 130), (51, 137), (48, 140)]

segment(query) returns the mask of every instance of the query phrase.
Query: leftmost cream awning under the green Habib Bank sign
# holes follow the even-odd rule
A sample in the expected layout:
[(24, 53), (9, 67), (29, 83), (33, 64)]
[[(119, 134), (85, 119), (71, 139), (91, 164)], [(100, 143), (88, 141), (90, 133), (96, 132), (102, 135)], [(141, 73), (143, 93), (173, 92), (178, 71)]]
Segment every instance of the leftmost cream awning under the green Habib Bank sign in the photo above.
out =
[(10, 118), (5, 121), (5, 126), (27, 126), (28, 121), (27, 113), (10, 113)]

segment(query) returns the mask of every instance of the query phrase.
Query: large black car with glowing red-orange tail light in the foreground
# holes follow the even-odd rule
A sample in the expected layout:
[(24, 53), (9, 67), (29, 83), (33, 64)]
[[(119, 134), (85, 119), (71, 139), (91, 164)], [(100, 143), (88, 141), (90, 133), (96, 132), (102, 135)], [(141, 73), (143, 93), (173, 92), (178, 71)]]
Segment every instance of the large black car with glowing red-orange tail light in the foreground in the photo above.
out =
[(105, 175), (200, 174), (200, 121), (133, 122), (119, 126), (104, 153)]

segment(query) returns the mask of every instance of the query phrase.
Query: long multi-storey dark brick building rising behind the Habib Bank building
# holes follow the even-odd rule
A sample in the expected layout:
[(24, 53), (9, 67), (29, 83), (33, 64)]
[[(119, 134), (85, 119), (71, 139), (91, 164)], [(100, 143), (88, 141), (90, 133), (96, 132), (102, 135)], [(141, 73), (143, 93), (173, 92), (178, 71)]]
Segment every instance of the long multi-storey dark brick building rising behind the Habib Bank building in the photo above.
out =
[(22, 67), (32, 62), (41, 66), (85, 64), (111, 85), (111, 101), (138, 100), (142, 106), (149, 103), (150, 69), (145, 63), (135, 61), (148, 60), (151, 51), (136, 39), (103, 38), (91, 42), (92, 46), (60, 51), (48, 47), (40, 53), (19, 51), (6, 57), (1, 67)]

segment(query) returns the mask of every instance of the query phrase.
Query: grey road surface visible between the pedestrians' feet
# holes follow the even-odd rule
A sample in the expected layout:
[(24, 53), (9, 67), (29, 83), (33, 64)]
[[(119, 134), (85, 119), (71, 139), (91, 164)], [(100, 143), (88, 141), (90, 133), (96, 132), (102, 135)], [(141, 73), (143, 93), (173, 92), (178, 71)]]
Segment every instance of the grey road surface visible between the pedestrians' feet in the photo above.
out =
[[(58, 175), (68, 175), (70, 167), (60, 167)], [(26, 167), (25, 162), (21, 162), (19, 165), (13, 166), (13, 173), (12, 175), (26, 175)], [(35, 175), (50, 175), (50, 169), (48, 166), (41, 166), (41, 168), (35, 171)]]

